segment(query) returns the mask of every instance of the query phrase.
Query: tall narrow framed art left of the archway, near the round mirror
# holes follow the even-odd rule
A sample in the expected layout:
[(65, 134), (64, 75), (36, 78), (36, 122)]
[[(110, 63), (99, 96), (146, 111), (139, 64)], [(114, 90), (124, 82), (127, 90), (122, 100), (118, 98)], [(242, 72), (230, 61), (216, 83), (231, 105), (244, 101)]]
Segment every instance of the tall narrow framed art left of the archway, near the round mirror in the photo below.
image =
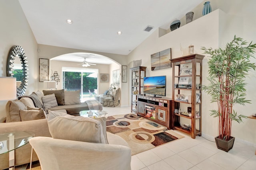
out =
[(49, 80), (49, 60), (39, 59), (39, 82)]

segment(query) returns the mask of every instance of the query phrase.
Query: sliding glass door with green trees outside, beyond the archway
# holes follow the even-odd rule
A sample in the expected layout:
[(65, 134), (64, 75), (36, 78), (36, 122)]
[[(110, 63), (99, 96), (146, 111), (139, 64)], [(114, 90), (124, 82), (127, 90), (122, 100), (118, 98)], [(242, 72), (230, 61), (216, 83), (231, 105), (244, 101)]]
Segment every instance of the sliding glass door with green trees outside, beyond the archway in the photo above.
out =
[(80, 100), (94, 99), (98, 89), (98, 69), (62, 68), (63, 89), (68, 91), (80, 90)]

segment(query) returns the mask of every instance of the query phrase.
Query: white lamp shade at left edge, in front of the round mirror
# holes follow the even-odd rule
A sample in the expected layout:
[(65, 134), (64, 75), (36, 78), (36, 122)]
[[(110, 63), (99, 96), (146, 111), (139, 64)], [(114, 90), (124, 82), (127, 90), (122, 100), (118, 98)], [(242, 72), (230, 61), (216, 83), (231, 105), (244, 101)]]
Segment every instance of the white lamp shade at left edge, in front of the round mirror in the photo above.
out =
[(17, 99), (15, 77), (0, 77), (0, 100)]

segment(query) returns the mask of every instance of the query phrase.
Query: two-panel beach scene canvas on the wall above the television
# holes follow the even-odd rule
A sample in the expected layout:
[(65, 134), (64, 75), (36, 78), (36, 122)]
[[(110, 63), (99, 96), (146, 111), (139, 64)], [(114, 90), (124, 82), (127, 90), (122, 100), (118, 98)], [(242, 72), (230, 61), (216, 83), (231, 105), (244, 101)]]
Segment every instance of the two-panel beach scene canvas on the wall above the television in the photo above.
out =
[(159, 70), (164, 68), (171, 68), (170, 61), (172, 57), (171, 48), (166, 49), (151, 55), (151, 70)]

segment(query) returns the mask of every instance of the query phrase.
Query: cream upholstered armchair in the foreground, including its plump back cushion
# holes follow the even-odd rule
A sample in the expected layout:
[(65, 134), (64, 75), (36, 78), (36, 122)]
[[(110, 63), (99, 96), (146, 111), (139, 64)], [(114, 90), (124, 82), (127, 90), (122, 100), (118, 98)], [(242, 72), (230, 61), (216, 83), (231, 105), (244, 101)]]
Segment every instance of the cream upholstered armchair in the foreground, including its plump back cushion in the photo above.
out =
[(51, 137), (34, 137), (42, 170), (130, 170), (131, 149), (120, 136), (106, 132), (106, 117), (72, 116), (49, 111)]

